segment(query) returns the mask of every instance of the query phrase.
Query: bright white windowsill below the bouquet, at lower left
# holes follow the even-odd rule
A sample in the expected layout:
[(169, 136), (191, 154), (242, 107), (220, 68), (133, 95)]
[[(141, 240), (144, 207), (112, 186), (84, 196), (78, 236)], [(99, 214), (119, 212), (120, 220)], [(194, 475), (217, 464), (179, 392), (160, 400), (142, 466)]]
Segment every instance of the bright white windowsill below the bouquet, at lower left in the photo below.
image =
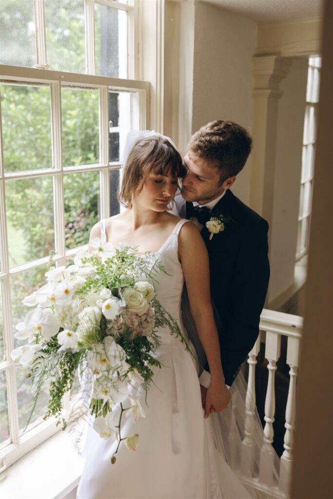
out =
[(83, 458), (68, 429), (59, 431), (0, 474), (0, 496), (6, 499), (62, 499), (77, 486)]

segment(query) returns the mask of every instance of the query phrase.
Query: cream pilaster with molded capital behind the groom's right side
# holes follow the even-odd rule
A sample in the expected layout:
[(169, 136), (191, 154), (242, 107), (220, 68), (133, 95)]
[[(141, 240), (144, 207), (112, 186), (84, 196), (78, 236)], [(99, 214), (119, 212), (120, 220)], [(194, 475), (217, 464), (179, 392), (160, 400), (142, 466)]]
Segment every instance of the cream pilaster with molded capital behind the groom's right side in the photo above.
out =
[(253, 57), (253, 150), (250, 206), (271, 225), (273, 220), (278, 100), (280, 82), (291, 62), (281, 57)]

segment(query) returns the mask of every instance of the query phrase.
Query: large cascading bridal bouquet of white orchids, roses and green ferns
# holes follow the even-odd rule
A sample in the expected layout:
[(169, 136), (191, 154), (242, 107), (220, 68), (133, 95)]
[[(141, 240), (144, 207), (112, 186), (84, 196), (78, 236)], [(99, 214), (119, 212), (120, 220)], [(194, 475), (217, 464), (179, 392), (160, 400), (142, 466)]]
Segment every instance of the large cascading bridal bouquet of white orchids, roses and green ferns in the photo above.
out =
[[(188, 346), (177, 322), (155, 296), (156, 274), (165, 272), (160, 262), (126, 244), (117, 250), (99, 238), (89, 244), (93, 253), (78, 251), (67, 268), (54, 267), (51, 257), (47, 283), (24, 299), (34, 308), (16, 325), (16, 338), (28, 343), (11, 356), (32, 379), (26, 426), (45, 383), (50, 396), (44, 419), (53, 415), (57, 424), (61, 422), (62, 397), (83, 366), (92, 381), (86, 402), (95, 417), (93, 427), (101, 437), (118, 440), (114, 463), (121, 441), (130, 450), (138, 443), (137, 434), (121, 437), (121, 418), (125, 411), (134, 421), (145, 416), (136, 395), (140, 389), (147, 393), (152, 367), (161, 367), (154, 357), (160, 344), (157, 328), (168, 327)], [(129, 407), (123, 407), (126, 399)], [(63, 418), (62, 423), (65, 429)]]

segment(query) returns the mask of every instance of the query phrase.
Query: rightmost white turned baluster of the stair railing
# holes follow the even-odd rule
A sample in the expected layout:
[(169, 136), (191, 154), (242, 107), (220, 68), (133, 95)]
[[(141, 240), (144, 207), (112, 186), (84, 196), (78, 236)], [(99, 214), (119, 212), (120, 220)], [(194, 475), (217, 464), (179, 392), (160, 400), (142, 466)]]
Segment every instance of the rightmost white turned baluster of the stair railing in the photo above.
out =
[(288, 338), (287, 364), (290, 366), (290, 382), (286, 407), (286, 433), (284, 437), (284, 452), (281, 456), (280, 489), (289, 493), (290, 476), (293, 462), (294, 429), (296, 418), (296, 377), (299, 362), (299, 338)]

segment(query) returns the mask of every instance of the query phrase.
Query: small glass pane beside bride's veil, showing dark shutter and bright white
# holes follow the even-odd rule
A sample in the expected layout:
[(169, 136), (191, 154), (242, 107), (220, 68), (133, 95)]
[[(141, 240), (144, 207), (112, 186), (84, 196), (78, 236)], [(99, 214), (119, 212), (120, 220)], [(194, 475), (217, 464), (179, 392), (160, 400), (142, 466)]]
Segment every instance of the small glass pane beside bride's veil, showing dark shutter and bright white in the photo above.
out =
[(128, 132), (138, 129), (138, 92), (109, 92), (109, 161), (120, 161)]

